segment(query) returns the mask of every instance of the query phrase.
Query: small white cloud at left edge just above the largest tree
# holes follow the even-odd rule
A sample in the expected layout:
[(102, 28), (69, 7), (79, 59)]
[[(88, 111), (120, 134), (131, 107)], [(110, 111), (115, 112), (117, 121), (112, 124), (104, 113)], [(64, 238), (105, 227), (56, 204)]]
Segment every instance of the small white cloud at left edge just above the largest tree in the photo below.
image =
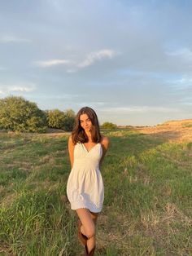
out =
[(36, 90), (34, 84), (30, 85), (0, 85), (0, 94), (7, 94), (11, 92), (31, 92)]

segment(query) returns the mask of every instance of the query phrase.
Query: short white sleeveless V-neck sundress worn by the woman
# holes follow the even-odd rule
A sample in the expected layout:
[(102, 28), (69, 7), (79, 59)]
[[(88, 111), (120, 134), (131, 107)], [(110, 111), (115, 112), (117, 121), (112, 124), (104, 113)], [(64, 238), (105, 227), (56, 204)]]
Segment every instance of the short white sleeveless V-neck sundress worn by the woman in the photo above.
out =
[(74, 161), (68, 176), (67, 195), (71, 209), (87, 208), (99, 213), (103, 208), (104, 186), (99, 161), (103, 155), (101, 143), (87, 151), (83, 143), (74, 147)]

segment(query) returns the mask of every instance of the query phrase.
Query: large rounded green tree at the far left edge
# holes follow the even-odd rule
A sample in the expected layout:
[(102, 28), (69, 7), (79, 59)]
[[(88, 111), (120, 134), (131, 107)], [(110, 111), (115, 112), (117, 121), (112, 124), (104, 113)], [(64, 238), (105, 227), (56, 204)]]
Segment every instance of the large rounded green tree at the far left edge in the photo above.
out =
[(0, 99), (0, 128), (13, 131), (41, 132), (46, 130), (46, 115), (37, 104), (20, 96)]

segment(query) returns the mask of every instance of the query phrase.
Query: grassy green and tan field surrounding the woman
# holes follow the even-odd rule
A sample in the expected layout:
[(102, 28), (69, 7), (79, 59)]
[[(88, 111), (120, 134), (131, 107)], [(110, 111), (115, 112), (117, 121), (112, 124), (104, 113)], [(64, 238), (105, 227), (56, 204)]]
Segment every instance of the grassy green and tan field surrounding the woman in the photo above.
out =
[[(110, 148), (95, 255), (192, 255), (192, 120), (102, 130)], [(68, 133), (0, 133), (0, 255), (83, 247), (66, 195)]]

